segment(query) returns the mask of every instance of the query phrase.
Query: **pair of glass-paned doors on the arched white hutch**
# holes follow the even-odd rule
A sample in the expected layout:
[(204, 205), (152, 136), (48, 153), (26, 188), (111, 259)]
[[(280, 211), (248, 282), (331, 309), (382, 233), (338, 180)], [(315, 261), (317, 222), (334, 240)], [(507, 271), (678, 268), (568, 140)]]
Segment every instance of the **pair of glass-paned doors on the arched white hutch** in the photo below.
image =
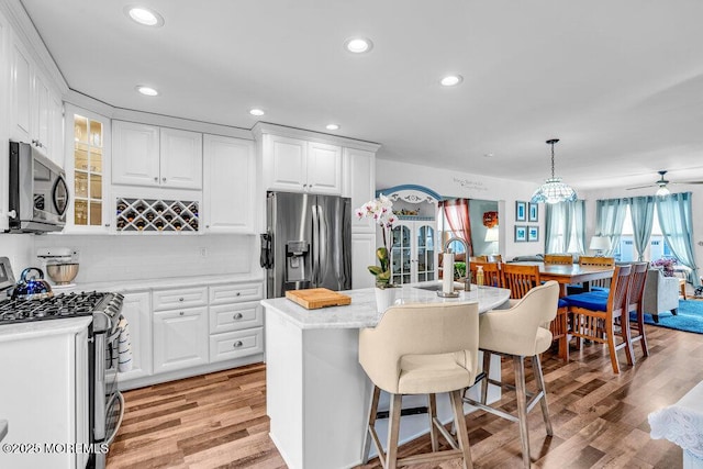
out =
[(401, 221), (392, 231), (391, 281), (397, 284), (436, 279), (433, 222)]

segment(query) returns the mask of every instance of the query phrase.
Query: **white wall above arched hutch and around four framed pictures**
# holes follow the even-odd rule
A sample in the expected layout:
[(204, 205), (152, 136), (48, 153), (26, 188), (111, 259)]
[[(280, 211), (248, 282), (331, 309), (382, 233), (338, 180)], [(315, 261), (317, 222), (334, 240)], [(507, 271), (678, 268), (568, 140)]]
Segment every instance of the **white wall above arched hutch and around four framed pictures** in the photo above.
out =
[[(539, 242), (515, 243), (515, 201), (529, 201), (537, 183), (477, 176), (467, 172), (413, 165), (403, 161), (376, 159), (376, 188), (420, 185), (443, 197), (499, 201), (500, 254), (505, 259), (544, 253), (545, 208), (539, 205)], [(517, 223), (527, 225), (526, 222)]]

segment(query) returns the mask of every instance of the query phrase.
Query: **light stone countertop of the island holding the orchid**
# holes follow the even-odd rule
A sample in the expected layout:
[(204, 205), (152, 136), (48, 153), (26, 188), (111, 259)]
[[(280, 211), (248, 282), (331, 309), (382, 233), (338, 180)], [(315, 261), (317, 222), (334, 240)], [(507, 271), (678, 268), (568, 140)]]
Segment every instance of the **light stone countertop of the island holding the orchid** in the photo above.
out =
[[(458, 298), (440, 298), (436, 291), (416, 288), (428, 284), (436, 284), (436, 282), (403, 286), (398, 289), (398, 299), (401, 303), (478, 301), (479, 312), (486, 312), (502, 305), (510, 298), (510, 290), (502, 288), (472, 286), (471, 291), (459, 291)], [(306, 310), (286, 298), (261, 300), (261, 304), (267, 312), (274, 311), (302, 330), (373, 327), (381, 319), (381, 313), (376, 311), (375, 290), (366, 288), (341, 292), (352, 297), (352, 304), (346, 306)]]

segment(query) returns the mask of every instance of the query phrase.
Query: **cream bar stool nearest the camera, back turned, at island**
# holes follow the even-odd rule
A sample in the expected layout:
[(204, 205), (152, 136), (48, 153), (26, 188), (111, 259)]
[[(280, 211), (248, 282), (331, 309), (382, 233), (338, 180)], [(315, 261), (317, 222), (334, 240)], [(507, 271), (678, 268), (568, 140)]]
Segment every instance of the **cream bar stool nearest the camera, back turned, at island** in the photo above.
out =
[[(461, 392), (477, 375), (478, 314), (478, 303), (405, 304), (389, 308), (375, 328), (359, 332), (359, 362), (375, 384), (362, 462), (368, 461), (370, 437), (386, 469), (458, 457), (464, 468), (473, 467)], [(375, 427), (381, 390), (391, 394), (386, 453)], [(449, 393), (456, 439), (437, 420), (435, 394), (440, 392)], [(432, 453), (398, 459), (402, 394), (428, 394)], [(437, 431), (453, 449), (438, 450)]]

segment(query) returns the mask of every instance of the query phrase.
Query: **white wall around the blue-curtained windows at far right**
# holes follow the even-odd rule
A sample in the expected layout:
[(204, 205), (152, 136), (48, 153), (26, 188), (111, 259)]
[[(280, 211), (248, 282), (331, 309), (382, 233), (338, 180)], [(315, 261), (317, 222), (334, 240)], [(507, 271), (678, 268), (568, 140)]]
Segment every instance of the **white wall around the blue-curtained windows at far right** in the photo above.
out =
[[(693, 249), (695, 253), (695, 263), (699, 266), (699, 275), (703, 275), (703, 187), (701, 186), (669, 186), (672, 192), (691, 192), (692, 205), (693, 205)], [(583, 192), (587, 197), (585, 202), (585, 230), (587, 230), (587, 244), (590, 242), (591, 236), (595, 234), (595, 201), (604, 199), (616, 199), (621, 197), (637, 197), (637, 196), (652, 196), (657, 190), (656, 187), (626, 190), (622, 188), (599, 189), (598, 191)], [(579, 197), (582, 193), (579, 192)]]

